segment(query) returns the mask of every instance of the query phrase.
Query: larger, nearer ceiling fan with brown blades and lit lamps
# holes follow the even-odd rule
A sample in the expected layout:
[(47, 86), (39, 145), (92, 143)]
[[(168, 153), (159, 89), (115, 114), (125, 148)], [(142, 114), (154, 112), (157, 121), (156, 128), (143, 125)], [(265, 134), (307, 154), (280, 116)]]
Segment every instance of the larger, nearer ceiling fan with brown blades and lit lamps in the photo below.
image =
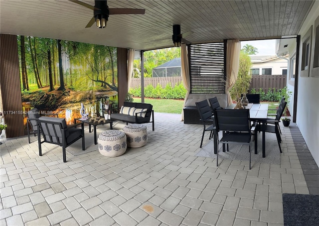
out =
[(94, 22), (96, 22), (96, 26), (98, 28), (104, 28), (106, 26), (106, 22), (109, 19), (109, 15), (115, 14), (145, 14), (145, 9), (139, 8), (109, 8), (106, 0), (95, 0), (94, 6), (84, 3), (79, 0), (69, 0), (74, 3), (80, 4), (84, 7), (90, 8), (94, 11), (94, 16), (86, 25), (85, 28), (91, 27)]

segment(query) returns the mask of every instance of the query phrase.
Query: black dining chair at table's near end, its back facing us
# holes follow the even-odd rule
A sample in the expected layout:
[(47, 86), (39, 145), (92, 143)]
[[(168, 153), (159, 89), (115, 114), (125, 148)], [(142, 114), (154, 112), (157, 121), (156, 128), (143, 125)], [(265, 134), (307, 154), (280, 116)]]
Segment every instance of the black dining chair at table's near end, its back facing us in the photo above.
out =
[[(215, 109), (214, 115), (216, 130), (222, 131), (223, 134), (217, 139), (218, 143), (227, 144), (227, 151), (230, 143), (249, 145), (249, 169), (251, 169), (251, 137), (256, 127), (250, 125), (249, 109)], [(216, 149), (216, 166), (218, 166), (218, 144)]]

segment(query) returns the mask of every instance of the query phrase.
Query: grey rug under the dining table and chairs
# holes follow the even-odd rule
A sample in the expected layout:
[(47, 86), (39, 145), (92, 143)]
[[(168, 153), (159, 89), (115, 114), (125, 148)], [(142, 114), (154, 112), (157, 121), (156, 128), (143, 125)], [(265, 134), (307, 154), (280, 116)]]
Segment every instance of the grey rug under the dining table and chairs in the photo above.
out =
[[(208, 133), (208, 132), (206, 132)], [(203, 146), (195, 156), (216, 158), (214, 154), (214, 141), (213, 139), (208, 140), (208, 134), (205, 133)], [(219, 137), (222, 133), (219, 133)], [(200, 140), (199, 140), (200, 141)], [(206, 144), (205, 144), (206, 142)], [(199, 144), (199, 142), (198, 142)], [(266, 157), (262, 157), (262, 133), (258, 134), (258, 154), (255, 154), (255, 142), (252, 141), (252, 153), (251, 161), (269, 164), (280, 164), (280, 150), (277, 143), (277, 138), (275, 133), (266, 133)], [(229, 159), (229, 160), (239, 160), (239, 161), (249, 161), (249, 146), (241, 144), (229, 144), (229, 151), (223, 152), (223, 145), (219, 144), (218, 158)]]

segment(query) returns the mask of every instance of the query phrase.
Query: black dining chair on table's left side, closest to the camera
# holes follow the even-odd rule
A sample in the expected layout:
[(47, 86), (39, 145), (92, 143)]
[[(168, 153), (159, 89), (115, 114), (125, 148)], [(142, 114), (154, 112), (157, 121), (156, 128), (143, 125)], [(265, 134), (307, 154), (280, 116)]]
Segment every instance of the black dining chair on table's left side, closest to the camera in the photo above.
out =
[(213, 135), (213, 130), (215, 129), (214, 125), (214, 116), (213, 113), (208, 105), (207, 100), (203, 100), (201, 102), (196, 102), (196, 107), (200, 116), (200, 121), (202, 122), (204, 128), (203, 128), (203, 134), (200, 141), (200, 147), (203, 144), (204, 134), (205, 131), (210, 131), (209, 139)]

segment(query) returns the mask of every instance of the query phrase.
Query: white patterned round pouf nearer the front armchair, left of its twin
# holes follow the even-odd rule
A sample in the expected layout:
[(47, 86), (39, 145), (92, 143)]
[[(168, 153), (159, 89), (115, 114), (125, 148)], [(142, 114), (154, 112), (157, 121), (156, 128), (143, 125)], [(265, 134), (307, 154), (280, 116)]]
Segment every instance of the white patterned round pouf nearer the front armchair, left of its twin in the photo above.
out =
[(127, 148), (126, 135), (120, 130), (103, 131), (98, 138), (99, 152), (108, 157), (123, 155)]

